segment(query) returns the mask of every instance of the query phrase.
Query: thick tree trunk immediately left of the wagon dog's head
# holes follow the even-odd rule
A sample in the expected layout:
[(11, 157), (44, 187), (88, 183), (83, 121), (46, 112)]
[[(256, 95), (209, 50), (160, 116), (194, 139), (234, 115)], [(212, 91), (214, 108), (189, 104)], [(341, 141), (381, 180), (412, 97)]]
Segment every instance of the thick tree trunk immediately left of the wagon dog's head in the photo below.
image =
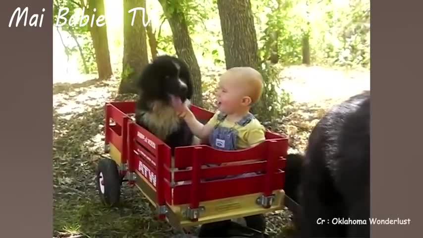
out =
[(149, 63), (147, 54), (147, 36), (143, 25), (143, 12), (128, 12), (135, 7), (146, 7), (146, 0), (123, 0), (123, 61), (122, 80), (118, 93), (138, 93), (135, 82), (141, 71)]

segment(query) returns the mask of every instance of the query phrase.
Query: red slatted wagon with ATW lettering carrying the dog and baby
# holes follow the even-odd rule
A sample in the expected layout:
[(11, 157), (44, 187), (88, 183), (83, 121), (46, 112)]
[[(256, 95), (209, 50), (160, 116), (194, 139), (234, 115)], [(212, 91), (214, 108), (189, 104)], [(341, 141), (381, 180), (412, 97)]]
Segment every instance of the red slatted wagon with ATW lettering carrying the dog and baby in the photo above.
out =
[[(267, 131), (266, 140), (253, 148), (221, 151), (202, 144), (177, 147), (172, 157), (165, 143), (131, 118), (135, 102), (106, 103), (105, 110), (105, 150), (110, 158), (100, 161), (97, 181), (106, 204), (119, 202), (121, 183), (128, 181), (157, 208), (159, 219), (175, 227), (284, 207), (287, 137)], [(200, 120), (213, 116), (196, 106), (191, 110)]]

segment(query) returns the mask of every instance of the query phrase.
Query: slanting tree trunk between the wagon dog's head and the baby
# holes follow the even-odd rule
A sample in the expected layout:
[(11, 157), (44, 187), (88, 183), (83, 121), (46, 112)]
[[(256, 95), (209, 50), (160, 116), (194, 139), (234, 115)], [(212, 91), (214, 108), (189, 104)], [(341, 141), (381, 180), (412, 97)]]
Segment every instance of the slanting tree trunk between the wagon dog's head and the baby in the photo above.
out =
[[(171, 12), (167, 7), (168, 3), (166, 0), (159, 0), (159, 2), (169, 22), (170, 29), (172, 30), (173, 45), (175, 46), (176, 55), (179, 59), (185, 61), (191, 73), (194, 92), (191, 102), (196, 106), (202, 107), (203, 90), (201, 84), (201, 71), (197, 62), (197, 58), (195, 57), (194, 48), (192, 46), (184, 13), (175, 10), (180, 9), (181, 6), (172, 6), (170, 9), (173, 9), (173, 11)], [(177, 4), (177, 1), (173, 1), (173, 4)]]

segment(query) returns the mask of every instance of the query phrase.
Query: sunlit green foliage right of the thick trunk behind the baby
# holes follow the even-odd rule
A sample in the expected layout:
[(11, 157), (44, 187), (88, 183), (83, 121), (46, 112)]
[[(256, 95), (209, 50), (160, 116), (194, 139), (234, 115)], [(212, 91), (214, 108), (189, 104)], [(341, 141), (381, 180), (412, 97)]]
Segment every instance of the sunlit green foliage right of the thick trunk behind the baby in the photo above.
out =
[[(277, 32), (281, 63), (301, 63), (302, 38), (310, 34), (315, 64), (370, 66), (369, 0), (264, 0), (253, 4), (260, 44), (269, 51), (270, 33)], [(261, 56), (268, 57), (264, 52)]]

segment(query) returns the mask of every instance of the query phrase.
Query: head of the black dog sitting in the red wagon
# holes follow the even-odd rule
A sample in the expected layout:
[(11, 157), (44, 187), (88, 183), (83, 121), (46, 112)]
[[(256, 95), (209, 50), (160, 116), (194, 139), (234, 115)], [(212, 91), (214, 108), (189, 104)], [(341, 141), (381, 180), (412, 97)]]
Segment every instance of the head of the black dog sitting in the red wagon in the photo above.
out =
[(144, 99), (171, 103), (185, 102), (193, 94), (188, 66), (172, 56), (159, 56), (146, 66), (138, 81)]

